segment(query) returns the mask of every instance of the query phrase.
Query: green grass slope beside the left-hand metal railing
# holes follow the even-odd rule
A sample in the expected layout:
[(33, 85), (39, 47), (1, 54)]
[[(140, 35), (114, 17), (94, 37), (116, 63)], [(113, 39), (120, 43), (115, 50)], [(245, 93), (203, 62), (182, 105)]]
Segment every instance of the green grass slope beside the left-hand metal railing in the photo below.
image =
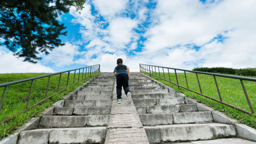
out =
[[(10, 82), (18, 79), (26, 79), (29, 77), (36, 77), (40, 75), (45, 75), (48, 73), (12, 73), (12, 74), (0, 74), (0, 83)], [(92, 77), (99, 74), (99, 72), (92, 75)], [(59, 90), (64, 89), (67, 85), (67, 73), (61, 74), (61, 82)], [(70, 73), (69, 76), (69, 86), (73, 84), (73, 82), (78, 81), (78, 73)], [(83, 76), (85, 77), (85, 75)], [(80, 73), (79, 80), (82, 79), (82, 73)], [(13, 117), (8, 122), (0, 124), (0, 139), (8, 136), (10, 133), (15, 132), (15, 130), (21, 126), (22, 124), (28, 122), (31, 117), (39, 117), (41, 112), (44, 111), (47, 107), (54, 104), (54, 102), (64, 99), (64, 95), (69, 94), (74, 89), (82, 85), (86, 82), (90, 77), (78, 82), (77, 84), (68, 87), (63, 92), (54, 95), (50, 99), (47, 99), (45, 102), (32, 107), (26, 112), (19, 114), (18, 116)], [(33, 88), (31, 92), (31, 99), (29, 101), (29, 106), (35, 104), (36, 102), (41, 101), (45, 97), (46, 87), (47, 87), (48, 77), (36, 79), (33, 82)], [(59, 74), (51, 76), (49, 82), (49, 90), (47, 93), (47, 97), (57, 92), (59, 84)], [(13, 84), (8, 86), (3, 107), (0, 112), (0, 122), (4, 119), (21, 112), (23, 109), (26, 109), (26, 101), (28, 98), (29, 89), (31, 86), (31, 81), (22, 82), (19, 84)], [(2, 97), (4, 87), (0, 87), (0, 96)]]

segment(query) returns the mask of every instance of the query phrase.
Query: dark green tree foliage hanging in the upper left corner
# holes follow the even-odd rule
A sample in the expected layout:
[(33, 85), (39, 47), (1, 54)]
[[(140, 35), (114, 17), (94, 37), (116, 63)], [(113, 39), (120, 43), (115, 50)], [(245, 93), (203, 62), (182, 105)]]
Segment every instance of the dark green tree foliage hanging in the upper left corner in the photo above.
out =
[[(7, 47), (23, 61), (36, 63), (39, 53), (49, 54), (64, 45), (64, 23), (56, 18), (69, 12), (71, 6), (82, 10), (86, 0), (0, 0), (0, 45)], [(80, 13), (80, 12), (79, 12)]]

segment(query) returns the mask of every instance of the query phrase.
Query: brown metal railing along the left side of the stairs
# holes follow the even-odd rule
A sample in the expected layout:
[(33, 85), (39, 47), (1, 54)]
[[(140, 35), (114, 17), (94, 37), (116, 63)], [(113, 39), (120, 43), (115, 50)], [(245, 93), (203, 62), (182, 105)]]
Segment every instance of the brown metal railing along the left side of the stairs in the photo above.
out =
[[(31, 78), (27, 78), (27, 79), (20, 79), (20, 80), (16, 80), (16, 81), (12, 81), (12, 82), (5, 82), (5, 83), (2, 83), (0, 84), (0, 87), (5, 87), (4, 88), (4, 91), (3, 91), (3, 95), (2, 95), (2, 98), (1, 98), (1, 101), (0, 101), (0, 111), (2, 110), (2, 106), (3, 106), (3, 102), (4, 102), (4, 99), (5, 99), (5, 94), (6, 94), (6, 91), (7, 91), (7, 88), (8, 86), (12, 85), (12, 84), (18, 84), (18, 83), (21, 83), (21, 82), (28, 82), (28, 81), (31, 81), (31, 86), (30, 86), (30, 90), (29, 90), (29, 94), (28, 94), (28, 99), (27, 99), (27, 104), (26, 104), (26, 109), (23, 109), (23, 111), (21, 112), (18, 112), (17, 114), (14, 114), (13, 116), (10, 116), (8, 117), (7, 119), (3, 120), (1, 123), (3, 122), (7, 122), (9, 119), (11, 119), (12, 117), (18, 115), (18, 114), (21, 114), (23, 112), (25, 112), (26, 110), (30, 109), (31, 107), (34, 107), (44, 101), (46, 101), (47, 99), (51, 98), (52, 96), (64, 91), (65, 89), (67, 89), (68, 87), (71, 87), (72, 85), (76, 84), (77, 82), (75, 82), (75, 75), (76, 75), (76, 71), (79, 70), (79, 74), (78, 74), (78, 80), (77, 82), (80, 82), (82, 81), (83, 79), (87, 78), (87, 77), (90, 77), (92, 74), (96, 73), (96, 72), (100, 72), (100, 64), (98, 65), (91, 65), (91, 66), (88, 66), (88, 67), (82, 67), (82, 68), (78, 68), (78, 69), (73, 69), (73, 70), (67, 70), (67, 71), (63, 71), (63, 72), (57, 72), (57, 73), (53, 73), (53, 74), (46, 74), (46, 75), (42, 75), (42, 76), (38, 76), (38, 77), (31, 77)], [(79, 80), (79, 77), (80, 77), (80, 70), (82, 70), (82, 78)], [(85, 71), (84, 71), (85, 70)], [(69, 75), (70, 75), (70, 72), (74, 71), (74, 81), (73, 81), (73, 84), (69, 85)], [(67, 84), (66, 84), (66, 87), (64, 89), (61, 89), (59, 90), (59, 86), (60, 86), (60, 82), (61, 82), (61, 74), (63, 73), (66, 73), (68, 72), (68, 76), (67, 76)], [(47, 92), (48, 92), (48, 89), (49, 89), (49, 82), (50, 82), (50, 77), (51, 76), (54, 76), (54, 75), (57, 75), (59, 74), (59, 84), (58, 84), (58, 89), (57, 89), (57, 92), (50, 95), (49, 97), (47, 97)], [(30, 107), (28, 106), (29, 104), (29, 101), (30, 101), (30, 96), (31, 96), (31, 91), (32, 91), (32, 87), (33, 87), (33, 81), (35, 79), (40, 79), (40, 78), (44, 78), (44, 77), (48, 77), (48, 83), (47, 83), (47, 87), (46, 87), (46, 92), (45, 92), (45, 97), (43, 100), (41, 100), (40, 102), (37, 102), (36, 104), (33, 104), (31, 105)]]

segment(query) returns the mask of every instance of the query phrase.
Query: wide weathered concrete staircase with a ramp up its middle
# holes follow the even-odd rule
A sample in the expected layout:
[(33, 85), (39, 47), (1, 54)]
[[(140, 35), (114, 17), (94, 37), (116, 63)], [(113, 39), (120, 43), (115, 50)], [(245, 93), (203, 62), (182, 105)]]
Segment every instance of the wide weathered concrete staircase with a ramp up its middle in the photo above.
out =
[[(113, 73), (102, 72), (65, 100), (64, 107), (44, 115), (38, 129), (21, 132), (18, 144), (254, 143), (232, 138), (234, 125), (215, 122), (210, 110), (201, 111), (139, 72), (130, 75), (131, 104), (124, 92), (122, 103), (115, 102), (115, 86)], [(211, 140), (216, 137), (221, 139)]]

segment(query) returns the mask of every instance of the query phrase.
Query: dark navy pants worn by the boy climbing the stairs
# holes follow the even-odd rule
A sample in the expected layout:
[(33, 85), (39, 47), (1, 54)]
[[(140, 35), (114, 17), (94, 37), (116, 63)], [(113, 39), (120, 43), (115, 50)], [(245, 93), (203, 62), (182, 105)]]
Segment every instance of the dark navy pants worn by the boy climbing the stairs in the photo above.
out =
[(122, 86), (123, 90), (125, 91), (125, 95), (127, 95), (128, 92), (130, 92), (130, 89), (128, 87), (128, 74), (118, 74), (116, 76), (116, 94), (117, 99), (122, 99)]

